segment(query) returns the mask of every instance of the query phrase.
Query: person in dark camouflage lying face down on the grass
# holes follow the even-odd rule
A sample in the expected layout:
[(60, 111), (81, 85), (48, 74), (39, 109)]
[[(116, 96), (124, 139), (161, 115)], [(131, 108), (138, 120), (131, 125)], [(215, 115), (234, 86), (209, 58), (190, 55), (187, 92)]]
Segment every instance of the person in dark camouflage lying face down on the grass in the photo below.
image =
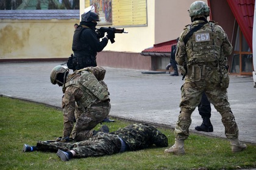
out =
[(92, 138), (77, 143), (38, 141), (37, 146), (24, 144), (23, 151), (57, 151), (62, 161), (73, 157), (98, 157), (118, 152), (137, 151), (149, 148), (168, 146), (168, 138), (150, 124), (132, 124), (109, 134), (99, 132)]

